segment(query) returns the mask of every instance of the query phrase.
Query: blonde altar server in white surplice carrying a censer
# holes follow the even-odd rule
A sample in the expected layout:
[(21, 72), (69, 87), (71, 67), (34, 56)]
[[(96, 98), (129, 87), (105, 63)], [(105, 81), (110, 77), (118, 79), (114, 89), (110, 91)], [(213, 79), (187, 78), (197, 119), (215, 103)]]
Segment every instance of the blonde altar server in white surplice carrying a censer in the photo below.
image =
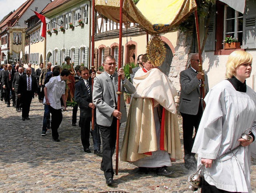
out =
[[(252, 55), (232, 52), (226, 63), (227, 79), (204, 99), (206, 108), (192, 149), (198, 154), (198, 168), (205, 166), (202, 193), (252, 191), (250, 157), (256, 149), (256, 93), (246, 85), (251, 72)], [(252, 139), (245, 140), (243, 133)]]

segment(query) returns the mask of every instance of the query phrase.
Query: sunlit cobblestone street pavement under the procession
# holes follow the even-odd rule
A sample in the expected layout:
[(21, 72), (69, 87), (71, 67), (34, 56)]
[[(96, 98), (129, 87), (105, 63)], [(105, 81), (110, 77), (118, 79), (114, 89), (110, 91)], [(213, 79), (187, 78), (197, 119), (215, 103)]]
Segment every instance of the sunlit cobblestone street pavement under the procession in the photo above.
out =
[[(50, 130), (41, 136), (43, 106), (32, 101), (30, 120), (22, 121), (21, 112), (0, 102), (0, 192), (172, 192), (189, 193), (183, 160), (173, 163), (174, 174), (162, 177), (151, 171), (137, 173), (134, 165), (119, 161), (115, 187), (108, 187), (100, 170), (99, 156), (84, 153), (80, 128), (71, 126), (72, 109), (63, 112), (60, 142), (52, 141)], [(78, 111), (79, 115), (79, 111)], [(180, 136), (182, 136), (179, 118)], [(120, 128), (120, 146), (125, 124)], [(181, 137), (182, 139), (182, 137)], [(91, 141), (92, 144), (92, 141)], [(92, 150), (92, 146), (90, 147)], [(115, 155), (114, 159), (115, 161)], [(115, 163), (114, 163), (115, 165)], [(252, 189), (256, 192), (256, 161), (251, 168)]]

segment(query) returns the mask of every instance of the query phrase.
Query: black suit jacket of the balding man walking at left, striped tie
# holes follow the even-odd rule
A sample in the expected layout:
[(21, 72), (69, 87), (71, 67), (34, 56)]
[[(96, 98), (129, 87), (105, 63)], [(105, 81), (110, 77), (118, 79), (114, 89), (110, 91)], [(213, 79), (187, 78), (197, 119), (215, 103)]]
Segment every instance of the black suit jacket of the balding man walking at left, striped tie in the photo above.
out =
[(21, 97), (27, 97), (27, 95), (32, 95), (32, 97), (34, 97), (34, 93), (37, 93), (36, 77), (31, 75), (31, 79), (32, 79), (31, 91), (27, 91), (27, 75), (24, 74), (20, 76), (19, 85), (18, 85), (18, 94), (21, 94)]

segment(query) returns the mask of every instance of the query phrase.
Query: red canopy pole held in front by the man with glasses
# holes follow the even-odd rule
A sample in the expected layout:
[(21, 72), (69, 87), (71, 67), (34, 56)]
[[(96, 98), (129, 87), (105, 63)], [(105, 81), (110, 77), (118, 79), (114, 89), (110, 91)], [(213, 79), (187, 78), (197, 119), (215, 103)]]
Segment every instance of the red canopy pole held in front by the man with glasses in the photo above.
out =
[[(119, 50), (118, 50), (118, 69), (121, 68), (122, 63), (122, 29), (123, 28), (123, 0), (120, 0), (120, 21), (119, 21)], [(120, 112), (120, 99), (121, 99), (121, 77), (118, 77), (118, 95), (117, 110)], [(116, 175), (118, 175), (118, 154), (119, 154), (119, 127), (120, 120), (116, 124)]]

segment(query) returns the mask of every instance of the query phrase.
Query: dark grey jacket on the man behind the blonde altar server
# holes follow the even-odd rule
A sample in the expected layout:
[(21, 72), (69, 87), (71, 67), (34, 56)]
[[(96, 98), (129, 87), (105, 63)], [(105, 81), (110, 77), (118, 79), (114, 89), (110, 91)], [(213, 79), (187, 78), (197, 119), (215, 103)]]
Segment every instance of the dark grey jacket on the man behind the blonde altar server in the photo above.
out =
[[(200, 102), (200, 81), (196, 78), (197, 73), (192, 69), (180, 72), (180, 108), (179, 111), (185, 114), (196, 115)], [(205, 94), (209, 91), (208, 77), (205, 74)], [(202, 105), (202, 100), (201, 100)]]

